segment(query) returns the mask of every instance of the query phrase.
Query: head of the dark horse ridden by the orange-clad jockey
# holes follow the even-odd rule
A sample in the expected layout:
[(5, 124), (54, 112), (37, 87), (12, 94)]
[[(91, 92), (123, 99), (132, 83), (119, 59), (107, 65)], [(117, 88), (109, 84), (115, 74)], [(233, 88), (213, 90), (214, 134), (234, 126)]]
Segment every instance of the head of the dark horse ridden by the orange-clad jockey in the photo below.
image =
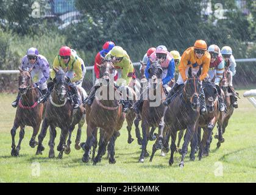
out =
[(199, 76), (201, 75), (201, 68), (197, 73), (192, 73), (192, 69), (188, 69), (188, 80), (185, 84), (184, 90), (187, 98), (190, 100), (191, 108), (196, 110), (199, 107), (199, 94), (201, 88), (201, 81)]

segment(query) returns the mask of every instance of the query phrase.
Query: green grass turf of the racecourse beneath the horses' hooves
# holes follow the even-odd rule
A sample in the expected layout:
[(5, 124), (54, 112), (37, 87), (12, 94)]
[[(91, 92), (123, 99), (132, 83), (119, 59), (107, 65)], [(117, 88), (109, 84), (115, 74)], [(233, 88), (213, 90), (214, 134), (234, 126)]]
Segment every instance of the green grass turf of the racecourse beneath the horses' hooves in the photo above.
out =
[[(213, 140), (210, 155), (198, 161), (190, 161), (187, 155), (185, 167), (179, 168), (180, 155), (174, 155), (174, 165), (169, 166), (169, 154), (160, 157), (157, 151), (154, 160), (138, 163), (140, 146), (137, 141), (127, 143), (126, 122), (121, 136), (116, 140), (116, 164), (108, 164), (106, 157), (93, 166), (89, 161), (83, 163), (83, 151), (76, 151), (74, 144), (71, 153), (63, 159), (48, 158), (49, 132), (44, 139), (43, 155), (35, 155), (36, 148), (29, 146), (32, 128), (26, 127), (21, 144), (20, 157), (12, 157), (11, 135), (15, 108), (10, 103), (14, 94), (0, 94), (0, 182), (256, 182), (256, 108), (242, 97), (244, 91), (238, 91), (241, 99), (239, 108), (230, 119), (224, 134), (225, 142), (216, 150)], [(18, 143), (20, 129), (16, 132)], [(216, 127), (214, 132), (216, 132)], [(135, 138), (134, 126), (132, 129)], [(56, 146), (59, 143), (60, 130), (57, 129)], [(76, 130), (73, 133), (73, 143)], [(86, 137), (86, 125), (82, 129), (82, 140)], [(149, 141), (148, 151), (153, 141)], [(189, 149), (190, 150), (190, 149)], [(190, 151), (189, 151), (190, 152)]]

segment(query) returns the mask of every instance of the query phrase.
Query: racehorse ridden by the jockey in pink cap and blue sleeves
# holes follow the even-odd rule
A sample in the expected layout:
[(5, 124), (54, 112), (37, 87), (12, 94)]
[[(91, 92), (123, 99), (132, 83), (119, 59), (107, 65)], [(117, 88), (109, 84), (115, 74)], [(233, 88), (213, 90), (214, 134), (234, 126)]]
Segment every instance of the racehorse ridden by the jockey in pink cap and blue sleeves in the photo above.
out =
[[(144, 162), (144, 157), (147, 157), (149, 154), (146, 150), (148, 140), (149, 140), (149, 128), (159, 126), (161, 119), (163, 117), (163, 111), (165, 106), (162, 104), (162, 101), (165, 100), (165, 92), (163, 91), (162, 87), (162, 73), (163, 69), (161, 68), (158, 62), (154, 62), (148, 69), (149, 72), (149, 79), (152, 80), (150, 84), (152, 85), (149, 87), (146, 92), (149, 94), (149, 98), (143, 101), (143, 107), (141, 110), (141, 128), (143, 132), (143, 141), (142, 141), (142, 151), (139, 158), (139, 162)], [(158, 99), (151, 99), (154, 97), (154, 94), (158, 96)], [(159, 96), (160, 94), (160, 96)], [(143, 94), (144, 95), (144, 94)], [(156, 105), (151, 105), (152, 102), (159, 101)], [(161, 134), (161, 133), (159, 133)], [(163, 135), (161, 137), (163, 139)], [(158, 141), (158, 140), (157, 140)], [(154, 144), (153, 151), (157, 144)]]

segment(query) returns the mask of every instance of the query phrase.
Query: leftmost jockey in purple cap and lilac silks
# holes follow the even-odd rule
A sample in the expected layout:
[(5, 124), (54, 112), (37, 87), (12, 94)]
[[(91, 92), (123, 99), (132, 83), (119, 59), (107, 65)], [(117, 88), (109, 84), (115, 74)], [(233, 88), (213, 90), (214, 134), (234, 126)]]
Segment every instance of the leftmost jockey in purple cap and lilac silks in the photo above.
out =
[[(49, 63), (46, 60), (46, 57), (39, 54), (37, 48), (29, 48), (27, 54), (21, 60), (21, 69), (29, 70), (32, 67), (31, 77), (33, 79), (37, 76), (38, 79), (37, 81), (34, 80), (34, 87), (40, 88), (44, 95), (47, 93), (46, 80), (49, 78)], [(17, 107), (20, 97), (20, 93), (18, 93), (16, 100), (12, 102), (13, 107)]]

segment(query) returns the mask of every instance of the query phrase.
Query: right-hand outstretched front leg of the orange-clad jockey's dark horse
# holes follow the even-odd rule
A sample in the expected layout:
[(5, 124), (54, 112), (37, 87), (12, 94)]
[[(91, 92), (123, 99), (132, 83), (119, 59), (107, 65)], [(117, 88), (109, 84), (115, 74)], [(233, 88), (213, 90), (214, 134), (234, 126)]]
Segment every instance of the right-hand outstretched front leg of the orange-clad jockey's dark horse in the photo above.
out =
[(191, 138), (193, 137), (195, 129), (196, 129), (196, 122), (190, 126), (187, 126), (187, 132), (185, 133), (184, 143), (182, 145), (182, 150), (180, 151), (180, 153), (182, 154), (182, 159), (179, 163), (180, 167), (184, 166), (184, 159), (188, 152), (188, 144), (190, 143)]

